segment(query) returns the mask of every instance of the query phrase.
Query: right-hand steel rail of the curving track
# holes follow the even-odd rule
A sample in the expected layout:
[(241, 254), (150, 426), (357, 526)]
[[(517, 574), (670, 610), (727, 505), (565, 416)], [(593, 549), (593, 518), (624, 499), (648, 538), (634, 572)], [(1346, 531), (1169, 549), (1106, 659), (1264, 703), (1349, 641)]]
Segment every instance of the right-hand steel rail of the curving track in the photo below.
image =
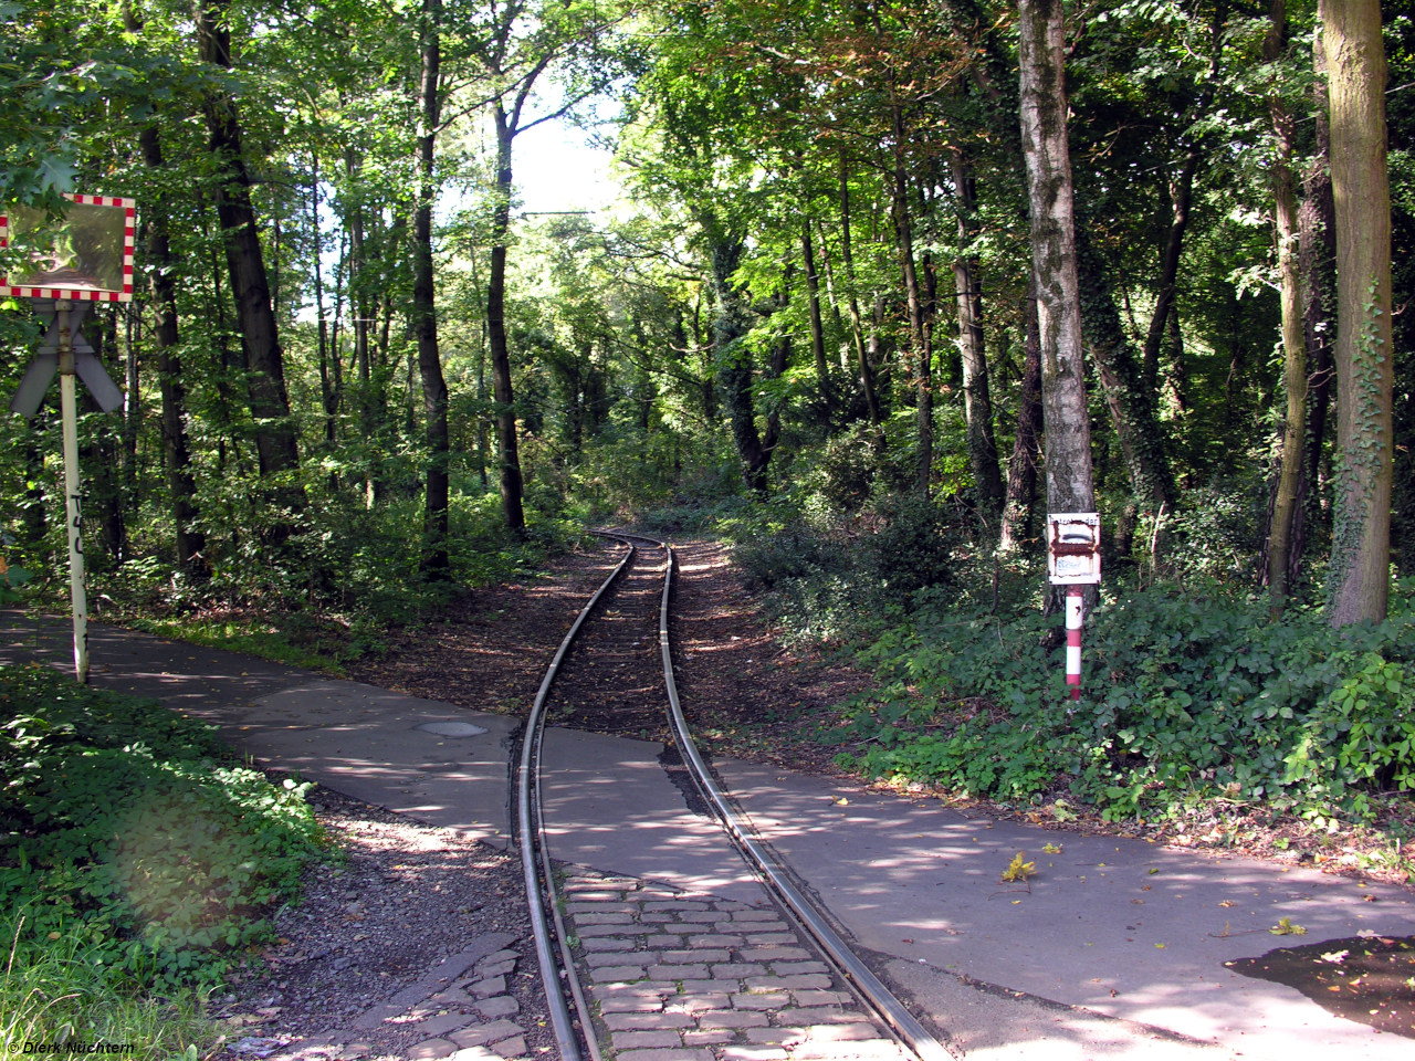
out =
[[(655, 540), (644, 535), (635, 535), (635, 538), (644, 538), (644, 540), (649, 542)], [(668, 638), (668, 601), (672, 594), (676, 557), (672, 546), (666, 542), (658, 542), (657, 545), (668, 556), (664, 573), (664, 596), (658, 608), (658, 647), (664, 658), (664, 683), (668, 686), (669, 719), (674, 726), (674, 736), (678, 740), (683, 761), (691, 768), (693, 781), (716, 809), (727, 833), (737, 842), (739, 849), (746, 854), (747, 860), (770, 881), (778, 897), (855, 986), (860, 997), (874, 1009), (921, 1061), (952, 1061), (952, 1054), (948, 1053), (944, 1044), (934, 1038), (869, 966), (855, 955), (839, 932), (826, 921), (825, 915), (787, 877), (785, 870), (782, 870), (777, 859), (751, 835), (750, 826), (741, 821), (741, 816), (729, 802), (726, 794), (713, 778), (712, 771), (709, 771), (708, 764), (698, 753), (698, 746), (688, 731), (688, 720), (683, 717), (683, 709), (678, 699), (678, 683), (674, 680), (672, 647)]]

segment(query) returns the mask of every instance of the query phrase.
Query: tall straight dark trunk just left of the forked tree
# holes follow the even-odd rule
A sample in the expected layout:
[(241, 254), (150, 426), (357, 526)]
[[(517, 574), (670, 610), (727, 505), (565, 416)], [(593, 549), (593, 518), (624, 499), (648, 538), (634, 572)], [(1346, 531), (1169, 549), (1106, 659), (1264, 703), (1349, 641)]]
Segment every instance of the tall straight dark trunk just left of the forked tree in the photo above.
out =
[(437, 198), (437, 127), (441, 124), (441, 0), (423, 3), (422, 81), (419, 85), (417, 204), (413, 208), (413, 334), (423, 389), (427, 474), (423, 494), (423, 545), (419, 569), (433, 580), (449, 577), (447, 508), (451, 458), (447, 429), (447, 381), (437, 347), (437, 289), (433, 274), (433, 202)]

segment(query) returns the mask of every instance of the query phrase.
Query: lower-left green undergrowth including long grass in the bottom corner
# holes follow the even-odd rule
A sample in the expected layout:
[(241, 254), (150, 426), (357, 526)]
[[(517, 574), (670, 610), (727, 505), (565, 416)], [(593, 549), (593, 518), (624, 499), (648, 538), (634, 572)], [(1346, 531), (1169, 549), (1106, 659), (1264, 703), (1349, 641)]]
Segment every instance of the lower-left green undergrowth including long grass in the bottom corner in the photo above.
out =
[(204, 992), (270, 938), (265, 912), (327, 850), (307, 785), (42, 666), (0, 671), (0, 1054), (187, 1054)]

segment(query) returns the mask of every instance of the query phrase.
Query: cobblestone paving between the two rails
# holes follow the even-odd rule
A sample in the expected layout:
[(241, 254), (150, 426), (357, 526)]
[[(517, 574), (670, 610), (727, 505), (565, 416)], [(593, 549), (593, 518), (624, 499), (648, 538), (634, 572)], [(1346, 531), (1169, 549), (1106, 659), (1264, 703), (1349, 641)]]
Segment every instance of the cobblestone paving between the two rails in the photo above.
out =
[(908, 1058), (766, 895), (753, 907), (577, 870), (562, 897), (616, 1061)]

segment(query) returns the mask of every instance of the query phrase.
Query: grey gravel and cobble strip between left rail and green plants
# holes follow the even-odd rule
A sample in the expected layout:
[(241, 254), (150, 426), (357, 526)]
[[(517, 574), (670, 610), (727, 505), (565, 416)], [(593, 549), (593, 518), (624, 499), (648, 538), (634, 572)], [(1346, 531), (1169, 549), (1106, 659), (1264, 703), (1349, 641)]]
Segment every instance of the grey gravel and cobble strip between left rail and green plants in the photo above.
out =
[(311, 804), (345, 859), (306, 873), (277, 944), (214, 997), (219, 1057), (553, 1055), (519, 863), (338, 792)]

